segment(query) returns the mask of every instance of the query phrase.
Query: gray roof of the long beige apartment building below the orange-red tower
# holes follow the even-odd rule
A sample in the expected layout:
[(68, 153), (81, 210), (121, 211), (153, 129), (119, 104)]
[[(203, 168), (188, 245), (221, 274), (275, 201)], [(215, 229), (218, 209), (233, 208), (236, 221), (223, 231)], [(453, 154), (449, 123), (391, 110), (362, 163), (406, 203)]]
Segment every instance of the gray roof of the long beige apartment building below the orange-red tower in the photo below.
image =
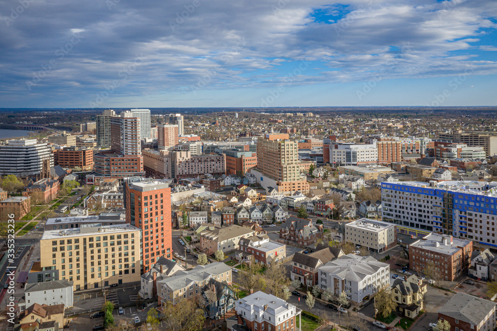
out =
[(179, 290), (189, 286), (193, 282), (200, 282), (209, 276), (220, 275), (224, 272), (231, 271), (231, 268), (224, 262), (214, 262), (206, 265), (197, 265), (191, 270), (180, 270), (173, 273), (170, 277), (161, 280), (171, 290)]

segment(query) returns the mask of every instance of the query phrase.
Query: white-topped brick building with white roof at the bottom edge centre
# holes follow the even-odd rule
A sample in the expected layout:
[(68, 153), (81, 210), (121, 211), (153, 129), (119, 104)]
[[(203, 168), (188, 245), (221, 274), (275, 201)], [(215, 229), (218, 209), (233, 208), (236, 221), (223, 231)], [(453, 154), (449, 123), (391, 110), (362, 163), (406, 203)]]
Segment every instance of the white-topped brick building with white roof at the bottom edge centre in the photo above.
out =
[[(267, 330), (297, 331), (302, 330), (302, 323), (297, 328), (297, 316), (302, 321), (302, 310), (272, 294), (261, 291), (246, 296), (235, 302), (237, 324), (233, 331)], [(246, 327), (244, 327), (246, 326)], [(244, 327), (244, 328), (242, 328)]]

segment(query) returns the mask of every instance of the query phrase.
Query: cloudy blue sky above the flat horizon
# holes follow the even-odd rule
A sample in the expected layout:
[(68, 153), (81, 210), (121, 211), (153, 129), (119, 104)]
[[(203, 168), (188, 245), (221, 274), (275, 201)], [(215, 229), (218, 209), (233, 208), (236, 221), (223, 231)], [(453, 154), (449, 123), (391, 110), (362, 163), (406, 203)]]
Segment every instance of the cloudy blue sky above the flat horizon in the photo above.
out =
[(494, 0), (0, 0), (0, 107), (496, 106)]

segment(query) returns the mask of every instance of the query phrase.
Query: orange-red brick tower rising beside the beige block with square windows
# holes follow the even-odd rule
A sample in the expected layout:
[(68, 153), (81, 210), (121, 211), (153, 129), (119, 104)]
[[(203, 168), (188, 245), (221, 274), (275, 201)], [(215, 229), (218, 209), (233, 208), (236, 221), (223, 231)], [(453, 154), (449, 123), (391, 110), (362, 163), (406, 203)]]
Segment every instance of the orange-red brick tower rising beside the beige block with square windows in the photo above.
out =
[(171, 189), (167, 181), (124, 179), (126, 222), (142, 229), (142, 270), (150, 270), (160, 256), (172, 258)]

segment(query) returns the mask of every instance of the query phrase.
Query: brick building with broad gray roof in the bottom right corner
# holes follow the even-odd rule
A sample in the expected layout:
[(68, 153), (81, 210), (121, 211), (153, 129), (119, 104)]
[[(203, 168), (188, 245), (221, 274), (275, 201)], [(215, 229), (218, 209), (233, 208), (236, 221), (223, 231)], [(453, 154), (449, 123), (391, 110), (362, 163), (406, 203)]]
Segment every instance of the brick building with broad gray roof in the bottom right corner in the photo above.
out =
[(486, 331), (496, 328), (496, 303), (458, 292), (438, 310), (438, 319), (450, 331)]

